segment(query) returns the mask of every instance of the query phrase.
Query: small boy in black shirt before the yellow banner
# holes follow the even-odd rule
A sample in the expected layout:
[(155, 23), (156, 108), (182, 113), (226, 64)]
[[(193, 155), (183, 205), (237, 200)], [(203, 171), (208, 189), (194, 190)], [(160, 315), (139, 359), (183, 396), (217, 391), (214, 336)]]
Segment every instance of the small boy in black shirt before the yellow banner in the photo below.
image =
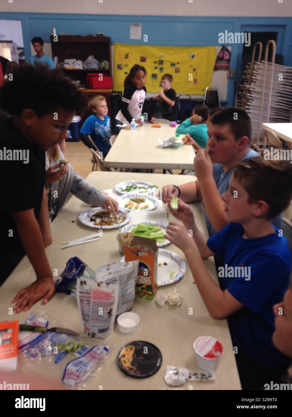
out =
[[(161, 86), (163, 90), (159, 91), (159, 95), (153, 97), (153, 100), (157, 100), (156, 106), (162, 111), (162, 118), (172, 120), (172, 109), (175, 105), (176, 93), (172, 84), (172, 75), (164, 74), (161, 77)], [(158, 117), (158, 116), (157, 116)]]

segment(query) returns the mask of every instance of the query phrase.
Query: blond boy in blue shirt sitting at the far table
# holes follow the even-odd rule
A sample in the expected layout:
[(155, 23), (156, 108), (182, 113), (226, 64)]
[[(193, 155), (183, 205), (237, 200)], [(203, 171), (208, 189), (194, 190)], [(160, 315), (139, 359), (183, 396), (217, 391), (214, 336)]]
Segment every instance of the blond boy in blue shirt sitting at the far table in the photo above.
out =
[(87, 136), (90, 135), (104, 159), (110, 150), (110, 118), (107, 116), (107, 102), (103, 95), (95, 95), (88, 106), (95, 114), (89, 116), (83, 123), (80, 137), (88, 148), (94, 148)]

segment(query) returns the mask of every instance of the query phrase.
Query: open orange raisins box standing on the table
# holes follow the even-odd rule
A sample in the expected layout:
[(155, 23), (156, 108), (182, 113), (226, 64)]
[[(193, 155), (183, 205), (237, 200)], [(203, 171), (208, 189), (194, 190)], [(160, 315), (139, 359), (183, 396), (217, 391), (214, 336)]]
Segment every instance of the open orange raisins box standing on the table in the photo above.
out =
[(139, 260), (136, 296), (152, 300), (157, 292), (158, 248), (155, 239), (134, 236), (125, 246), (125, 261)]

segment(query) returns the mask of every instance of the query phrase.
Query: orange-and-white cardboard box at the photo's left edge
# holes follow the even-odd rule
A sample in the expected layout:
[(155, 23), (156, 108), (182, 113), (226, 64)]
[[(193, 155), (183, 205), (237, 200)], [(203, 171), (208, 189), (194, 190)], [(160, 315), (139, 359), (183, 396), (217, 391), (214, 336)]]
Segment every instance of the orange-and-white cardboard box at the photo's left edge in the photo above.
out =
[(0, 370), (17, 369), (18, 320), (0, 323)]

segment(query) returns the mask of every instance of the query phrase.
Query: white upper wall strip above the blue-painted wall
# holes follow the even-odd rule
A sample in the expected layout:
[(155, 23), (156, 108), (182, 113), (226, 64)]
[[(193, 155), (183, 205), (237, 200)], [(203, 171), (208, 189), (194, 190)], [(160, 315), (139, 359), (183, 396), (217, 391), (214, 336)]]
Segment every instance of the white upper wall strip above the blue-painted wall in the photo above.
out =
[(1, 0), (0, 11), (95, 15), (292, 16), (291, 0)]

